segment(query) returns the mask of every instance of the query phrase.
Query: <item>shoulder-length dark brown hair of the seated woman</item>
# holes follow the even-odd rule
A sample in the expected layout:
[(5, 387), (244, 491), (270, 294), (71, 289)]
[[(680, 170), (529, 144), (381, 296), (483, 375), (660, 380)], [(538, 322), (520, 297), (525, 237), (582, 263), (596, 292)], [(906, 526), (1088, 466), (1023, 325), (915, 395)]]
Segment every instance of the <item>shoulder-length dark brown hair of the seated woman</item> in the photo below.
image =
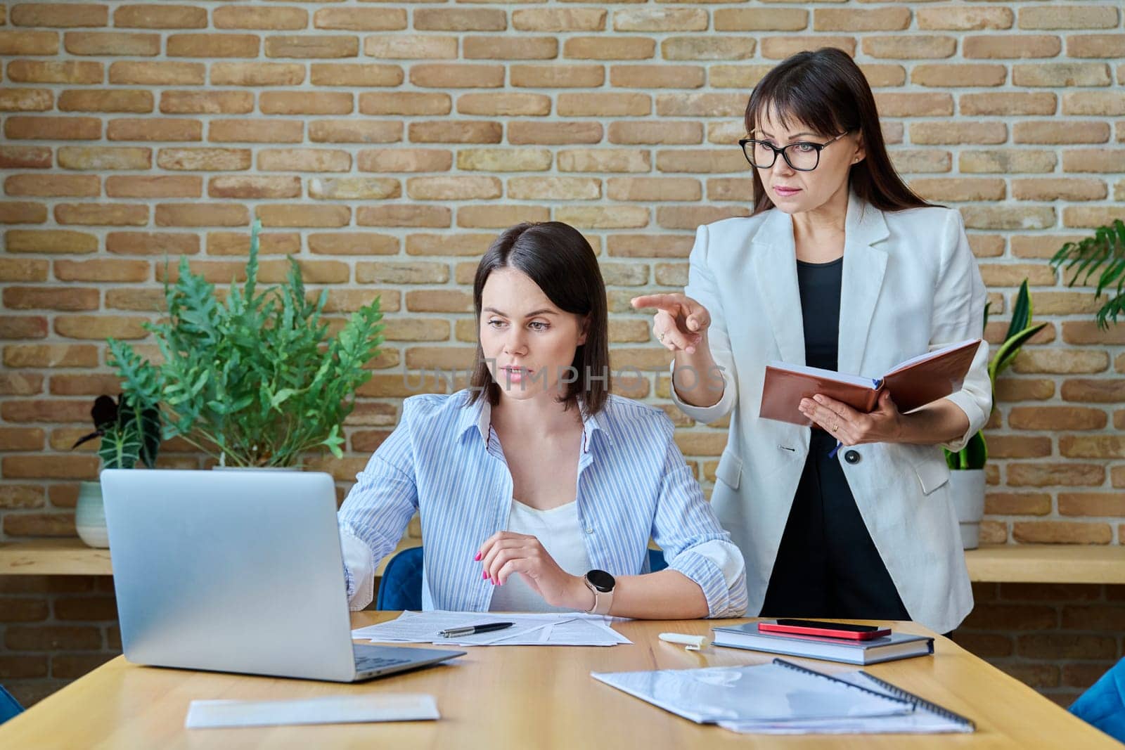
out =
[(478, 334), (477, 364), (470, 381), (469, 404), (475, 404), (485, 392), (493, 406), (500, 401), (500, 386), (488, 371), (480, 346), (480, 308), (489, 274), (506, 268), (526, 274), (560, 310), (587, 319), (586, 343), (578, 346), (570, 363), (578, 379), (566, 383), (566, 392), (558, 400), (567, 409), (579, 406), (586, 416), (597, 414), (605, 407), (610, 392), (610, 323), (605, 283), (590, 243), (580, 232), (561, 222), (516, 224), (502, 232), (480, 259), (472, 281)]

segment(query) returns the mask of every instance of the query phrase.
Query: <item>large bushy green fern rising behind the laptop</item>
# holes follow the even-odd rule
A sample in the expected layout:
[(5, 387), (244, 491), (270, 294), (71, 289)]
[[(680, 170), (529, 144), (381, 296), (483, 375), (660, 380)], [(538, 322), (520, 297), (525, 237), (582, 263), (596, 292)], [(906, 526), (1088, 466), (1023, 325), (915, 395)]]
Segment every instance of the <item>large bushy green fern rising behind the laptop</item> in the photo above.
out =
[(343, 455), (341, 428), (363, 365), (382, 343), (379, 299), (353, 313), (334, 335), (322, 319), (327, 290), (305, 293), (290, 257), (286, 282), (258, 287), (258, 234), (251, 228), (246, 280), (225, 300), (180, 259), (165, 273), (166, 318), (146, 324), (160, 349), (156, 364), (109, 340), (109, 362), (132, 403), (160, 404), (164, 437), (180, 436), (220, 467), (292, 468), (314, 449)]

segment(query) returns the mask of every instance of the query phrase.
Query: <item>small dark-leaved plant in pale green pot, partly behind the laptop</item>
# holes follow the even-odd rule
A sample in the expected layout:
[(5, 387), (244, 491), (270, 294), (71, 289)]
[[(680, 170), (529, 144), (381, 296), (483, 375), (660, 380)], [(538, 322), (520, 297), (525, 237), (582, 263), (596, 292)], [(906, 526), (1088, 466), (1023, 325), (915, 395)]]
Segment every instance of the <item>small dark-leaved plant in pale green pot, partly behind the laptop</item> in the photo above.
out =
[[(160, 451), (161, 417), (155, 404), (130, 403), (124, 396), (99, 396), (90, 409), (93, 432), (80, 437), (71, 449), (100, 437), (98, 457), (104, 469), (132, 469), (142, 462), (150, 469), (156, 466)], [(106, 509), (101, 501), (101, 484), (83, 481), (79, 485), (74, 526), (79, 537), (90, 546), (109, 546), (106, 533)]]

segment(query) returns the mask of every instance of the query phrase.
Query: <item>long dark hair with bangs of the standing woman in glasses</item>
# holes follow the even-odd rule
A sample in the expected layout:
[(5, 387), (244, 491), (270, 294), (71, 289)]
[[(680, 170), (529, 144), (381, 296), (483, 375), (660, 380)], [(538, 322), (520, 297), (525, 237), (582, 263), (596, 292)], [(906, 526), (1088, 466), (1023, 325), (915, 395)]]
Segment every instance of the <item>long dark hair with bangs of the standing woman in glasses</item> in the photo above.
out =
[[(879, 124), (875, 97), (867, 79), (847, 53), (832, 47), (799, 52), (763, 76), (746, 105), (746, 132), (754, 134), (758, 119), (770, 112), (784, 127), (793, 120), (831, 137), (858, 130), (865, 156), (852, 165), (852, 190), (875, 208), (899, 211), (932, 206), (919, 198), (891, 165)], [(773, 208), (758, 171), (754, 173), (754, 211)]]

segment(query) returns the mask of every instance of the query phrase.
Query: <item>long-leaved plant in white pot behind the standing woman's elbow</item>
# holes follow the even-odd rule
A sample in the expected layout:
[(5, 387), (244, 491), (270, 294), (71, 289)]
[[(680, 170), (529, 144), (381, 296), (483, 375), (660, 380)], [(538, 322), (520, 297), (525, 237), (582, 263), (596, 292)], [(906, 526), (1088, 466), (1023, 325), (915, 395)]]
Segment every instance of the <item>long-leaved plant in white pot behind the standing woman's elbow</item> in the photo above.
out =
[[(984, 305), (984, 325), (988, 325), (989, 305)], [(1027, 291), (1027, 279), (1019, 284), (1016, 305), (1011, 310), (1011, 322), (1004, 342), (996, 350), (988, 364), (988, 377), (992, 387), (992, 403), (996, 408), (996, 379), (1004, 372), (1027, 341), (1043, 329), (1046, 323), (1032, 324), (1032, 296)], [(944, 449), (943, 449), (944, 450)], [(984, 464), (988, 461), (988, 444), (984, 433), (976, 432), (963, 449), (945, 451), (945, 461), (953, 471), (950, 473), (950, 493), (961, 524), (961, 541), (966, 550), (980, 544), (981, 521), (984, 517)]]

